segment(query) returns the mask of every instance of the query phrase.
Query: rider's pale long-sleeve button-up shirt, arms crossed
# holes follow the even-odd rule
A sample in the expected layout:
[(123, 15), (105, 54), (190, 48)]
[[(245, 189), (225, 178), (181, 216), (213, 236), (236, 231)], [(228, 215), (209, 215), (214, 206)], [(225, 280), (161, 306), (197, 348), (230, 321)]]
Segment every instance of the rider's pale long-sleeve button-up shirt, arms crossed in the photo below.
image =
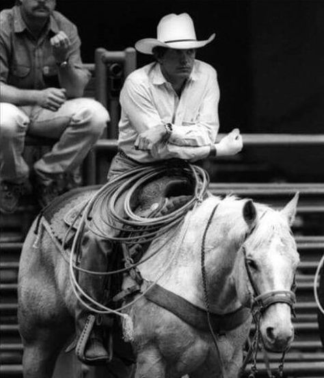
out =
[[(215, 69), (195, 60), (180, 98), (161, 73), (158, 63), (139, 68), (127, 77), (120, 94), (120, 149), (137, 162), (174, 157), (195, 161), (206, 157), (219, 129), (219, 86)], [(166, 123), (172, 135), (152, 151), (134, 147), (142, 132)]]

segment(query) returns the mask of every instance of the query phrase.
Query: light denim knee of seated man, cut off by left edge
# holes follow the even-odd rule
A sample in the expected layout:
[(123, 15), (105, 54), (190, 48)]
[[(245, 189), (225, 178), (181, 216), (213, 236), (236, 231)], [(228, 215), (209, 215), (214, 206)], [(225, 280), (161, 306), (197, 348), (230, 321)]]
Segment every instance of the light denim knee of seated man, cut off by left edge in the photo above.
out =
[(0, 103), (0, 136), (11, 139), (27, 131), (28, 116), (11, 103)]

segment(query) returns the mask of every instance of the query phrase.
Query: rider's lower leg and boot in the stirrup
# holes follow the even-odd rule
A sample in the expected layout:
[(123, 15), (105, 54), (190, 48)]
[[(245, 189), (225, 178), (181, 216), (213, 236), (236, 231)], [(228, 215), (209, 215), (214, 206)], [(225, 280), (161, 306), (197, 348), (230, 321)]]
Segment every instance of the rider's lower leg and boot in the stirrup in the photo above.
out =
[[(111, 242), (100, 240), (91, 231), (85, 231), (81, 246), (81, 262), (79, 266), (86, 270), (107, 272), (109, 255), (112, 253)], [(106, 276), (91, 275), (79, 272), (79, 285), (94, 300), (102, 303)], [(87, 300), (85, 299), (87, 302)], [(94, 306), (92, 303), (88, 303)], [(77, 346), (76, 354), (79, 360), (88, 365), (107, 364), (112, 357), (111, 336), (107, 342), (107, 351), (103, 334), (109, 334), (109, 329), (101, 325), (101, 316), (91, 312), (80, 301), (77, 301), (75, 312)]]

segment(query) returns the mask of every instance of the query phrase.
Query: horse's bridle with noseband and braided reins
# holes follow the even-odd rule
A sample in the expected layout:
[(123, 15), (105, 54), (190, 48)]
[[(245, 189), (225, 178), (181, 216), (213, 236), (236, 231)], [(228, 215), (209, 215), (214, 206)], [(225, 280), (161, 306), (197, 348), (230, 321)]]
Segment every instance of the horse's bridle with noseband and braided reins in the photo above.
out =
[[(211, 325), (211, 319), (210, 319), (210, 312), (209, 312), (209, 302), (208, 302), (208, 291), (207, 291), (207, 285), (206, 285), (206, 270), (205, 270), (205, 264), (204, 264), (204, 258), (205, 258), (205, 243), (206, 243), (206, 235), (208, 228), (211, 225), (211, 221), (213, 220), (213, 217), (215, 215), (215, 212), (217, 210), (219, 203), (215, 205), (213, 208), (211, 215), (208, 218), (207, 225), (204, 229), (204, 234), (202, 236), (202, 249), (201, 249), (201, 268), (202, 268), (202, 284), (204, 288), (204, 299), (205, 299), (205, 306), (206, 306), (206, 314), (207, 314), (207, 322), (209, 329), (211, 331), (211, 336), (213, 338), (213, 342), (215, 344), (215, 348), (217, 351), (217, 355), (219, 357), (219, 362), (221, 364), (221, 357), (220, 357), (220, 352), (219, 352), (219, 347), (217, 344), (217, 338), (215, 336), (215, 333), (213, 331), (213, 327)], [(265, 214), (265, 213), (264, 213)], [(262, 215), (264, 215), (262, 214)], [(262, 216), (261, 216), (262, 217)], [(293, 286), (291, 290), (271, 290), (269, 292), (265, 292), (263, 294), (260, 294), (258, 287), (256, 286), (256, 283), (253, 279), (251, 269), (249, 268), (249, 264), (247, 262), (247, 255), (246, 255), (246, 250), (245, 250), (245, 242), (249, 236), (254, 231), (253, 227), (249, 233), (245, 236), (245, 240), (243, 242), (243, 245), (241, 247), (243, 251), (243, 256), (244, 256), (244, 264), (245, 264), (245, 270), (247, 272), (247, 277), (249, 279), (249, 283), (252, 286), (253, 294), (252, 294), (252, 305), (251, 305), (251, 310), (252, 310), (252, 317), (254, 320), (254, 324), (256, 325), (256, 331), (254, 333), (254, 340), (252, 344), (249, 346), (249, 351), (247, 351), (247, 355), (243, 361), (243, 364), (240, 368), (240, 373), (239, 376), (243, 375), (245, 368), (247, 366), (247, 363), (249, 362), (250, 357), (253, 354), (253, 361), (252, 361), (252, 366), (250, 368), (250, 373), (248, 378), (254, 378), (256, 377), (256, 373), (258, 372), (256, 368), (256, 357), (258, 354), (258, 344), (260, 340), (260, 318), (262, 314), (267, 310), (268, 307), (275, 303), (287, 303), (292, 310), (293, 316), (295, 316), (295, 302), (296, 302), (296, 296), (295, 296), (295, 290), (296, 290), (296, 283), (295, 283), (295, 277), (293, 281)], [(262, 340), (262, 338), (261, 338)], [(265, 349), (264, 352), (266, 353)], [(278, 366), (278, 377), (282, 378), (283, 377), (283, 370), (284, 370), (284, 357), (285, 357), (286, 351), (282, 353), (282, 358), (280, 361), (280, 365)], [(267, 375), (269, 378), (275, 378), (275, 376), (271, 373), (271, 369), (269, 366), (269, 361), (265, 358), (265, 364), (267, 368)]]

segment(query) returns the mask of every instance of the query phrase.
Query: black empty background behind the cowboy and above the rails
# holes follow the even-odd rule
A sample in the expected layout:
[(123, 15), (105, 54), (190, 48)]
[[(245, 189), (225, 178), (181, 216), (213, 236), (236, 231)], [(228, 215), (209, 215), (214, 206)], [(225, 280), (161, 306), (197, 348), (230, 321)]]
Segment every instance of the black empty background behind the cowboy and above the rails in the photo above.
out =
[[(198, 59), (217, 69), (221, 132), (324, 132), (324, 0), (57, 0), (57, 10), (78, 26), (85, 63), (96, 47), (123, 50), (156, 38), (162, 16), (188, 12), (198, 39), (216, 33)], [(138, 66), (150, 59), (137, 54)], [(280, 179), (324, 179), (322, 146), (249, 148), (241, 156), (269, 164)]]

